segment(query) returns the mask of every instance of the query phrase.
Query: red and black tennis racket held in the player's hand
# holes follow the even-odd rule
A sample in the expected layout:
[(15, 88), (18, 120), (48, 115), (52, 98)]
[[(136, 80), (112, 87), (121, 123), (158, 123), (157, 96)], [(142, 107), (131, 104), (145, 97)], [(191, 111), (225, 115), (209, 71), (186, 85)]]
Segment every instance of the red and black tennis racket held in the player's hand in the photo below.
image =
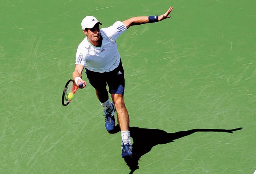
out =
[[(75, 81), (72, 79), (67, 81), (63, 90), (62, 100), (61, 100), (63, 106), (67, 106), (71, 102), (75, 92), (79, 87), (82, 87), (82, 83), (79, 83), (78, 85), (76, 85)], [(68, 97), (70, 95), (69, 93), (73, 93), (72, 98)]]

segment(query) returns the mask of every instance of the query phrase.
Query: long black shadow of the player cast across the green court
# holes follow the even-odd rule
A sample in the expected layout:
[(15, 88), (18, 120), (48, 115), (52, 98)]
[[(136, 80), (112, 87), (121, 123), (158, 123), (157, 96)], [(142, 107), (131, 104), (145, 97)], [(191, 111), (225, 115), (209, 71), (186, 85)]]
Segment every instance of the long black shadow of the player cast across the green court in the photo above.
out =
[[(243, 127), (236, 129), (191, 129), (187, 131), (180, 131), (174, 133), (167, 133), (161, 129), (147, 129), (139, 127), (130, 127), (130, 136), (133, 140), (132, 144), (132, 157), (124, 158), (127, 166), (130, 167), (130, 174), (139, 168), (139, 159), (150, 152), (152, 147), (158, 144), (167, 144), (174, 142), (174, 140), (189, 136), (195, 132), (226, 132), (233, 134), (234, 131), (241, 130)], [(115, 134), (119, 132), (119, 126), (109, 133)]]

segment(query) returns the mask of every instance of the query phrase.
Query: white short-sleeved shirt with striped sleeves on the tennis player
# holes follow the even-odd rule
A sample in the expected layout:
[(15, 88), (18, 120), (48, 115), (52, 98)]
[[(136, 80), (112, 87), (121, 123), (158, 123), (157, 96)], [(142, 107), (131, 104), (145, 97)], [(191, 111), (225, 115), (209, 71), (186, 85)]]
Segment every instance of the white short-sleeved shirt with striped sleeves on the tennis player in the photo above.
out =
[(101, 47), (91, 45), (85, 37), (76, 51), (76, 65), (80, 64), (88, 70), (101, 73), (117, 68), (120, 63), (120, 55), (117, 50), (116, 39), (126, 30), (126, 26), (121, 21), (116, 21), (108, 28), (100, 29)]

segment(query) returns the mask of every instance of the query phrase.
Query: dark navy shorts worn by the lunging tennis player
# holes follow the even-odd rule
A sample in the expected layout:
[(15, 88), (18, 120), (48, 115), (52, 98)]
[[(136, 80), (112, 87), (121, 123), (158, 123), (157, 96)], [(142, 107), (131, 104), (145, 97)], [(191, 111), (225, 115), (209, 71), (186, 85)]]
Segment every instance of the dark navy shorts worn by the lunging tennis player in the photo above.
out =
[(85, 68), (89, 83), (97, 90), (102, 91), (108, 85), (109, 93), (124, 94), (124, 68), (120, 60), (119, 66), (110, 72), (94, 72)]

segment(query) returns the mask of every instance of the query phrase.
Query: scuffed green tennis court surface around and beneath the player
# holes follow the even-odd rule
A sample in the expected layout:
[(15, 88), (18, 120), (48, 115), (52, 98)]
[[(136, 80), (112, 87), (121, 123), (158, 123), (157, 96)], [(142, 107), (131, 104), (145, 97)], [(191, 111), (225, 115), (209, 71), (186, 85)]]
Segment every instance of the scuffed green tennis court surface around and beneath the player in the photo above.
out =
[[(141, 153), (131, 169), (89, 83), (68, 106), (61, 95), (85, 37), (83, 17), (108, 27), (169, 6), (170, 19), (132, 26), (117, 40)], [(0, 173), (252, 174), (255, 8), (254, 0), (2, 1)]]

